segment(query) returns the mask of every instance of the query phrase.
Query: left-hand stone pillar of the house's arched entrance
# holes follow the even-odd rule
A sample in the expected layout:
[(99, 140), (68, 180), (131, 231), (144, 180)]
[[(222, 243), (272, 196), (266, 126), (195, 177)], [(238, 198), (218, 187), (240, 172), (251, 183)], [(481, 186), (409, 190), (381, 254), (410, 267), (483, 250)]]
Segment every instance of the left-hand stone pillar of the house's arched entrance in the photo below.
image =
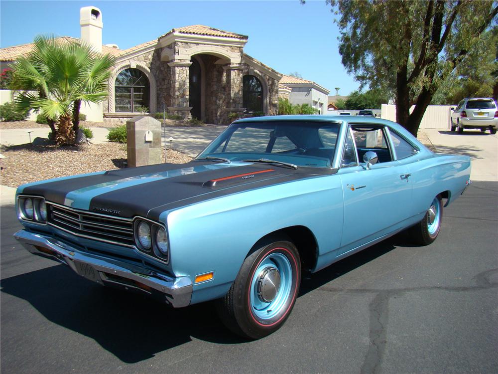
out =
[(192, 107), (188, 106), (188, 73), (190, 65), (192, 65), (192, 62), (187, 60), (173, 60), (168, 63), (171, 69), (171, 106), (168, 107), (168, 113), (179, 115), (184, 119), (192, 118), (190, 113)]

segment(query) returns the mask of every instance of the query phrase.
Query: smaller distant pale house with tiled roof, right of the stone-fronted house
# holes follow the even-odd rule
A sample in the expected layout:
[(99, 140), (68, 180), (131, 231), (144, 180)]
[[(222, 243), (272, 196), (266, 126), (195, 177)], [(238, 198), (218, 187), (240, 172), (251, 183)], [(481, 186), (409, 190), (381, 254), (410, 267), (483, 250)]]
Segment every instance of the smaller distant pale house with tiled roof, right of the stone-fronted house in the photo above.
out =
[(280, 97), (286, 98), (285, 89), (290, 89), (288, 99), (292, 104), (309, 104), (317, 109), (319, 114), (327, 113), (327, 95), (330, 91), (326, 88), (316, 82), (291, 75), (282, 75), (279, 83), (282, 86), (279, 90)]

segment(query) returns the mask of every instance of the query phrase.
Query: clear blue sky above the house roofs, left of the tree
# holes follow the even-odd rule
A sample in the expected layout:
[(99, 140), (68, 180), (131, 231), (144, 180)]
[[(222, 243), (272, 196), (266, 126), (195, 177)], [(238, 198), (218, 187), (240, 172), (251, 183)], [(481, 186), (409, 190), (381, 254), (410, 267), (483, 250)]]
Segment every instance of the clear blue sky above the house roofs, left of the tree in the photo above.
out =
[(121, 49), (157, 39), (174, 27), (204, 24), (248, 35), (244, 51), (283, 74), (298, 72), (335, 95), (358, 83), (344, 70), (338, 29), (325, 0), (285, 1), (0, 1), (0, 46), (37, 34), (80, 37), (79, 9), (101, 9), (104, 44)]

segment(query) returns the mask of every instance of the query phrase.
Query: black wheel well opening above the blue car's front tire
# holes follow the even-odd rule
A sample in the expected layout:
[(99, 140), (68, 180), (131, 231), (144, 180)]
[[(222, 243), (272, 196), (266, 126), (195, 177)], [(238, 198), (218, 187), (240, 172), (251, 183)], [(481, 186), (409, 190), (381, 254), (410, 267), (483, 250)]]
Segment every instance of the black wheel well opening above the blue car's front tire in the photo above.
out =
[(301, 268), (303, 270), (310, 271), (315, 267), (318, 258), (318, 245), (315, 235), (308, 227), (290, 226), (270, 232), (259, 239), (253, 248), (261, 248), (263, 245), (276, 240), (289, 240), (294, 243), (299, 252), (299, 257), (301, 257)]

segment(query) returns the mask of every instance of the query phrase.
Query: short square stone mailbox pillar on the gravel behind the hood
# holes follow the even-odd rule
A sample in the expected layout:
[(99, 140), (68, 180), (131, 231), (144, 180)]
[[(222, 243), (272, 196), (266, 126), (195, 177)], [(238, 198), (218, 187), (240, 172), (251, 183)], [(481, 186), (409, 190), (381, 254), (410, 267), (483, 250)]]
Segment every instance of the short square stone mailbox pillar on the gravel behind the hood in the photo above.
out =
[(126, 121), (128, 168), (162, 163), (161, 123), (149, 116)]

